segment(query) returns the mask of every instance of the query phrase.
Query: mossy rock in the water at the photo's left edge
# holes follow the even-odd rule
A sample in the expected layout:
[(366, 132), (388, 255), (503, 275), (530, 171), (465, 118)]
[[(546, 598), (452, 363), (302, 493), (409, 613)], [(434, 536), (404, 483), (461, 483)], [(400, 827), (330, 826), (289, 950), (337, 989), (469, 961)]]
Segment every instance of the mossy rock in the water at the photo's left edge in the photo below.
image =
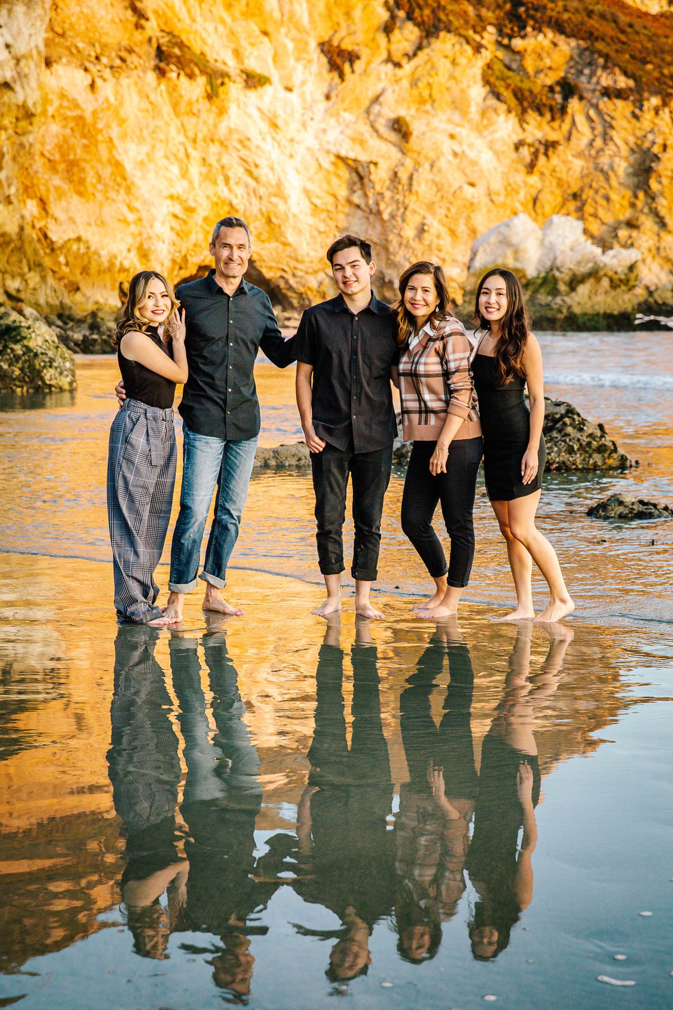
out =
[(0, 392), (75, 389), (75, 359), (31, 309), (0, 306)]

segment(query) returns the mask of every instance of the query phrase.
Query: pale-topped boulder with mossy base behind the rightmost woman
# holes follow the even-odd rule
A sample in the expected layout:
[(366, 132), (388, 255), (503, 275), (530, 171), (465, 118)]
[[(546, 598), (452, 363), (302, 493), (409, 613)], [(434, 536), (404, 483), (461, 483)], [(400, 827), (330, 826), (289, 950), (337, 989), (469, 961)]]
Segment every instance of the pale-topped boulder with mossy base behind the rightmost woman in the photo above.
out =
[(466, 301), (472, 307), (480, 277), (502, 267), (521, 281), (536, 326), (631, 327), (651, 296), (641, 280), (641, 260), (633, 247), (603, 250), (576, 218), (554, 214), (540, 227), (527, 214), (516, 214), (472, 246)]

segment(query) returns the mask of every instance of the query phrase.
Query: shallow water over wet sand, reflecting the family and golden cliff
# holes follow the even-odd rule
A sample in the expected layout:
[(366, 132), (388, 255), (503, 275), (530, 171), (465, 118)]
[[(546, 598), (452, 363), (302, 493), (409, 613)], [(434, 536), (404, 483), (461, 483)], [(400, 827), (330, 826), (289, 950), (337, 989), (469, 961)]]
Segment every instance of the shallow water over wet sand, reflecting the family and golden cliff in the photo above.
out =
[[(399, 476), (388, 619), (347, 600), (325, 626), (298, 474), (252, 482), (245, 617), (207, 623), (193, 594), (183, 632), (117, 628), (113, 362), (80, 360), (75, 396), (0, 404), (0, 1006), (670, 1005), (672, 534), (584, 515), (613, 490), (673, 499), (655, 338), (673, 349), (639, 336), (634, 372), (631, 334), (543, 335), (551, 395), (641, 460), (547, 481), (579, 604), (549, 630), (493, 621), (511, 593), (483, 495), (480, 602), (412, 616)], [(258, 373), (263, 441), (296, 440), (292, 371)]]

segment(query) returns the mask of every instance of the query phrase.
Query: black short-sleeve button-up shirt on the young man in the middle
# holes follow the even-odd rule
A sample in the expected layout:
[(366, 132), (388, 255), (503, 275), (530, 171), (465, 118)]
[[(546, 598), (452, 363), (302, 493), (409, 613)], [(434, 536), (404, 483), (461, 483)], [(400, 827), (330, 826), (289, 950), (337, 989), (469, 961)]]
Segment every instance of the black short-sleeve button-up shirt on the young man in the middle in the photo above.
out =
[(302, 315), (295, 352), (313, 367), (313, 427), (336, 448), (371, 452), (397, 434), (390, 389), (396, 334), (397, 317), (374, 295), (357, 314), (338, 295)]

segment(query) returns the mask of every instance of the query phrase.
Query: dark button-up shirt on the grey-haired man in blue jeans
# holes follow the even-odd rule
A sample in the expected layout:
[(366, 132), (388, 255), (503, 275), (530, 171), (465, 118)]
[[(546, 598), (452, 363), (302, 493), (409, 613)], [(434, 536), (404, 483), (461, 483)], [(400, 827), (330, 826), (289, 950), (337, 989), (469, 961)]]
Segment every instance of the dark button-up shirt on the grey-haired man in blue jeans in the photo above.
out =
[(254, 375), (258, 349), (285, 368), (295, 360), (294, 337), (283, 339), (264, 291), (242, 279), (229, 297), (214, 274), (211, 270), (176, 292), (185, 309), (189, 368), (178, 409), (196, 434), (244, 441), (260, 431)]

